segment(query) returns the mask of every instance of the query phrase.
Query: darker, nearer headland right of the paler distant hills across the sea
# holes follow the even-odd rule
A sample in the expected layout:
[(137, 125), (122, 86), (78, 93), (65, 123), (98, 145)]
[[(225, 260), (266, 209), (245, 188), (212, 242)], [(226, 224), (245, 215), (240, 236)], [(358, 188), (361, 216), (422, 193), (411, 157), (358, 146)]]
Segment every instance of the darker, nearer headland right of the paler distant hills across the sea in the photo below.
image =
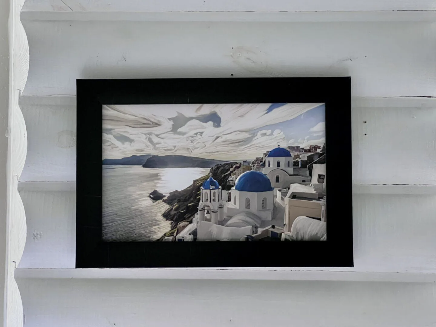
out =
[(187, 156), (150, 156), (142, 165), (144, 168), (211, 168), (226, 161)]

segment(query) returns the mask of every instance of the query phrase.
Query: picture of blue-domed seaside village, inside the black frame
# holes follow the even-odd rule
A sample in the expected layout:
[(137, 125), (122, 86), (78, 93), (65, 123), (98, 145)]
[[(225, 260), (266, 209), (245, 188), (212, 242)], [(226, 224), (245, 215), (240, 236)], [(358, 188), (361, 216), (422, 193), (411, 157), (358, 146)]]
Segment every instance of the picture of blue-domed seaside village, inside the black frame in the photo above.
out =
[(103, 241), (327, 240), (324, 103), (102, 110)]

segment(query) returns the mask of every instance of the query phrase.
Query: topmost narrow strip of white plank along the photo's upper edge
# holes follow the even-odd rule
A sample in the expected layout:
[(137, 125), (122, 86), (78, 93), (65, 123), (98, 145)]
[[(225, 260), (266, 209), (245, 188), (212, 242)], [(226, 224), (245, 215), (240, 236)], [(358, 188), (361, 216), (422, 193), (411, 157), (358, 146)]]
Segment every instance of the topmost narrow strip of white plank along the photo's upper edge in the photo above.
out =
[(367, 0), (347, 1), (323, 0), (286, 1), (271, 0), (88, 0), (78, 3), (74, 0), (27, 0), (23, 10), (45, 11), (367, 11), (367, 10), (435, 10), (435, 3), (431, 0)]

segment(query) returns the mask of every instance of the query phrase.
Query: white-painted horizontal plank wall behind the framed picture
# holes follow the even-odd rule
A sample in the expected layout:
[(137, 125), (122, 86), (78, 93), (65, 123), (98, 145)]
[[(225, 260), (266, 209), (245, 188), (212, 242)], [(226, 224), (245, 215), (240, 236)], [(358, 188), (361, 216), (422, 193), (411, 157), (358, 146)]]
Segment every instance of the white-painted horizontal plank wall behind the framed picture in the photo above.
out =
[[(28, 0), (27, 242), (15, 272), (25, 325), (434, 326), (435, 9), (430, 0)], [(355, 267), (72, 269), (75, 79), (231, 74), (352, 76)]]

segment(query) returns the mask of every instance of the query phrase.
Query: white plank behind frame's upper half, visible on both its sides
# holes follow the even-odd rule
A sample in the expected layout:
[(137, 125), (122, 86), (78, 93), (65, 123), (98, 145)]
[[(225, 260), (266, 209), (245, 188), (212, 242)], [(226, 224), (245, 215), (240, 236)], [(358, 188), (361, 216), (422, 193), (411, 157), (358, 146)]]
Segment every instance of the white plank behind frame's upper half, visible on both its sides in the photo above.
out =
[[(74, 101), (72, 96), (22, 97), (29, 137), (21, 181), (75, 181)], [(353, 98), (353, 183), (436, 185), (434, 121), (436, 99)], [(357, 193), (367, 192), (362, 187)], [(412, 193), (433, 192), (429, 187), (412, 188)]]

